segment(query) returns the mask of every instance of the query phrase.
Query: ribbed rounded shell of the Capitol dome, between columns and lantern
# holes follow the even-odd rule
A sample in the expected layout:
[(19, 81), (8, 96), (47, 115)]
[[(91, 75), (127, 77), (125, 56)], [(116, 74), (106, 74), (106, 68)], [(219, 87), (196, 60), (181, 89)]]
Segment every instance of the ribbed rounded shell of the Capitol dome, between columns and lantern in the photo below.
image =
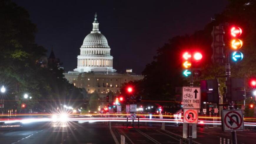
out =
[[(93, 31), (92, 31), (93, 32)], [(100, 32), (90, 33), (84, 38), (83, 46), (108, 46), (107, 39)]]

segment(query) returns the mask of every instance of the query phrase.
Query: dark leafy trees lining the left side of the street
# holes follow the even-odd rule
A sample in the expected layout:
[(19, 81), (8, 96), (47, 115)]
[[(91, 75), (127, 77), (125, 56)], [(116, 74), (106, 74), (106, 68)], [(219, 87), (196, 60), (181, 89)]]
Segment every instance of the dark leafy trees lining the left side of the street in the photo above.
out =
[[(37, 64), (47, 51), (35, 43), (36, 25), (24, 8), (1, 0), (0, 21), (0, 84), (7, 89), (1, 94), (6, 108), (20, 109), (25, 103), (27, 109), (39, 111), (58, 103), (54, 100), (83, 98), (81, 89), (63, 78), (59, 66), (49, 68)], [(25, 93), (32, 99), (24, 99)]]

